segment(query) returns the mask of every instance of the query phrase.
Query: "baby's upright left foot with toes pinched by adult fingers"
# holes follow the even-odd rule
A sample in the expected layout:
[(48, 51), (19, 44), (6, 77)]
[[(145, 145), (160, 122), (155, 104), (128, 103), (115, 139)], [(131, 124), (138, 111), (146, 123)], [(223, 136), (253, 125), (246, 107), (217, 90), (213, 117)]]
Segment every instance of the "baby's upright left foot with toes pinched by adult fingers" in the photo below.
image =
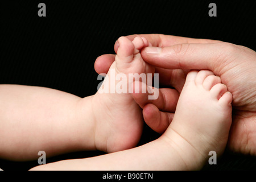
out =
[[(138, 36), (131, 42), (126, 37), (121, 37), (118, 42), (115, 61), (106, 76), (108, 79), (105, 78), (92, 103), (96, 118), (96, 148), (106, 152), (125, 150), (139, 142), (143, 127), (142, 110), (129, 94), (129, 87), (133, 84), (129, 73), (154, 73), (154, 68), (145, 63), (139, 53), (140, 49), (148, 46), (145, 38)], [(118, 74), (123, 79), (121, 87), (118, 87), (121, 81), (117, 78)], [(122, 89), (121, 93), (115, 90), (117, 87)]]

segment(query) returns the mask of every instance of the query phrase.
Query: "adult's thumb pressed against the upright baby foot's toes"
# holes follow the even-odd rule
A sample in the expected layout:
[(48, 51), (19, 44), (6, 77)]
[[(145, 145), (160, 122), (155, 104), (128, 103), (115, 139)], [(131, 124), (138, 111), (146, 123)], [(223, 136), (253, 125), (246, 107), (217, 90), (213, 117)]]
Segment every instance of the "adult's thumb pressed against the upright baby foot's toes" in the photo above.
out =
[[(232, 55), (231, 43), (176, 44), (170, 47), (145, 47), (141, 55), (147, 63), (166, 69), (209, 69), (215, 74)], [(221, 63), (221, 64), (219, 64)]]

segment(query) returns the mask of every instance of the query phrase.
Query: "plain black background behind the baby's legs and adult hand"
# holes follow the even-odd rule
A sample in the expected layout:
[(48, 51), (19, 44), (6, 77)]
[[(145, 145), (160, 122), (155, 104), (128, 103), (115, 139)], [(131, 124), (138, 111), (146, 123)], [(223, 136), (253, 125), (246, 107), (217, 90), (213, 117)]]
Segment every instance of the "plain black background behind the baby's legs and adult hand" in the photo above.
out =
[[(46, 4), (46, 17), (38, 4)], [(217, 17), (209, 17), (209, 3)], [(94, 61), (114, 53), (119, 36), (167, 34), (216, 39), (256, 50), (256, 1), (7, 1), (1, 2), (0, 84), (45, 86), (80, 97), (97, 92)], [(159, 135), (145, 126), (139, 144)], [(0, 146), (1, 147), (1, 146)], [(47, 159), (85, 158), (75, 152)], [(37, 161), (0, 160), (4, 170), (27, 170)], [(226, 151), (208, 170), (256, 169), (256, 159)]]

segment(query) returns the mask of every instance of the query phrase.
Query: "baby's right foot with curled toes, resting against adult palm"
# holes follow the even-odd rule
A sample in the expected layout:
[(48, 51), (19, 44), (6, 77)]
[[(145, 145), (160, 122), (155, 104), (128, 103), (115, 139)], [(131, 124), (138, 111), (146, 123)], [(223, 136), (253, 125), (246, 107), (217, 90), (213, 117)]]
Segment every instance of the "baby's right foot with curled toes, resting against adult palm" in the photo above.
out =
[[(174, 119), (164, 137), (179, 138), (180, 152), (189, 151), (188, 163), (209, 158), (209, 151), (221, 155), (232, 123), (232, 94), (210, 71), (191, 71), (177, 103)], [(180, 147), (181, 143), (184, 144)], [(182, 156), (182, 154), (181, 154)], [(196, 156), (199, 156), (196, 157)]]

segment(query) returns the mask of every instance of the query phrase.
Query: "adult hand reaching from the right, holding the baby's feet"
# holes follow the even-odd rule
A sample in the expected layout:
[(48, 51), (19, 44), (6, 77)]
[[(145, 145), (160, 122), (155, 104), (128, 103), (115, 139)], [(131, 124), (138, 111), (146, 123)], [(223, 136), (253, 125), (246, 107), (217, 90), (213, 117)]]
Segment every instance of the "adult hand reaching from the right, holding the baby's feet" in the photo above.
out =
[[(135, 36), (131, 35), (128, 38), (133, 39)], [(182, 89), (185, 74), (190, 69), (209, 69), (221, 77), (221, 81), (233, 94), (233, 123), (230, 129), (229, 148), (243, 154), (256, 155), (255, 51), (217, 40), (154, 34), (140, 36), (147, 38), (154, 46), (142, 50), (144, 61), (156, 66), (159, 81), (174, 86), (178, 92)], [(118, 48), (118, 43), (115, 43), (114, 48)], [(113, 55), (98, 57), (96, 71), (108, 71), (113, 60)], [(153, 111), (159, 114), (158, 110)], [(154, 115), (154, 112), (143, 112), (144, 118), (148, 118), (147, 113)]]

